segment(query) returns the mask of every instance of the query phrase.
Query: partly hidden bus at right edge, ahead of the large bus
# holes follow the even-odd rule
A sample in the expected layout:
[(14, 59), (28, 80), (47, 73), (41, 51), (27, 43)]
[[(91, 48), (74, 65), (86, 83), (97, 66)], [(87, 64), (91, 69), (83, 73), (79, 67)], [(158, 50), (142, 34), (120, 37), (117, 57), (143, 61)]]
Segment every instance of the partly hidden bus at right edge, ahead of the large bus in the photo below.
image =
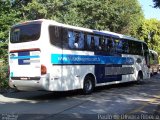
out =
[(150, 74), (151, 76), (157, 74), (159, 71), (158, 53), (154, 50), (149, 50), (150, 56)]

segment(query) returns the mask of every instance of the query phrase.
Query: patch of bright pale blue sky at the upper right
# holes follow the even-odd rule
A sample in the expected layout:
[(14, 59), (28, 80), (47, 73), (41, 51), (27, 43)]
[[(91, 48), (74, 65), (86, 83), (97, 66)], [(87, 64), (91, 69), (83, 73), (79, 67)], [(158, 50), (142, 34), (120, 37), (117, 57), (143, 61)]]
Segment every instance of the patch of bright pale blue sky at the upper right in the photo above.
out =
[(160, 20), (160, 8), (153, 8), (153, 0), (138, 0), (142, 6), (144, 16), (146, 19), (156, 18)]

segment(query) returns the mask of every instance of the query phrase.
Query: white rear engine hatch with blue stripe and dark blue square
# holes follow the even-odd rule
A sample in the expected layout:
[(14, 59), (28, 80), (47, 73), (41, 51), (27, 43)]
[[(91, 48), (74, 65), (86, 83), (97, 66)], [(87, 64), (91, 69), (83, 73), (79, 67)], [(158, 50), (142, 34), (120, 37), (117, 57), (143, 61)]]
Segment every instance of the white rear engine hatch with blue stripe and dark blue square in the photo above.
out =
[(11, 77), (40, 77), (40, 51), (10, 53), (10, 68)]

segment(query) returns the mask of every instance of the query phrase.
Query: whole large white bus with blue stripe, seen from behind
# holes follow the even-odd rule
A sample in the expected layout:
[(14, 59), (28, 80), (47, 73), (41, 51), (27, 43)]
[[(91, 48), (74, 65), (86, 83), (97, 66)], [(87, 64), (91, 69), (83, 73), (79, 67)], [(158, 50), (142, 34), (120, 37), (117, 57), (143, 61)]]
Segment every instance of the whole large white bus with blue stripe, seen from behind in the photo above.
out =
[(9, 85), (68, 91), (150, 77), (146, 43), (120, 34), (34, 20), (11, 28)]

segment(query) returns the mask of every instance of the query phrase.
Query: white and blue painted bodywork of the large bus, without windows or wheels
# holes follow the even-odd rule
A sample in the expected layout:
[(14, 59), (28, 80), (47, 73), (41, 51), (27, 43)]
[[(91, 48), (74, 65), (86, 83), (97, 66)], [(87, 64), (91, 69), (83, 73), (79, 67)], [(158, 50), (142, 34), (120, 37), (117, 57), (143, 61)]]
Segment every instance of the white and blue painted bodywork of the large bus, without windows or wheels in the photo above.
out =
[[(146, 60), (143, 55), (108, 54), (104, 51), (63, 49), (51, 42), (49, 33), (50, 25), (61, 26), (69, 30), (82, 31), (88, 34), (96, 33), (99, 36), (101, 34), (107, 34), (109, 37), (122, 39), (120, 35), (118, 36), (111, 32), (95, 32), (90, 29), (43, 20), (41, 24), (41, 36), (38, 40), (24, 43), (9, 43), (9, 84), (11, 87), (28, 91), (68, 91), (82, 89), (85, 77), (88, 74), (94, 76), (95, 86), (135, 81), (137, 80), (139, 71), (142, 71), (144, 79), (149, 78), (148, 67), (145, 64)], [(21, 53), (25, 52), (26, 49), (34, 48), (38, 48), (39, 51), (32, 50)], [(15, 52), (16, 50), (21, 50), (21, 52)], [(12, 55), (12, 53), (15, 55)], [(30, 61), (36, 62), (28, 65), (23, 63)], [(41, 75), (42, 65), (47, 70), (44, 75)], [(20, 77), (21, 79), (12, 79), (13, 76)], [(30, 79), (28, 79), (29, 77)], [(39, 77), (39, 80), (36, 80), (34, 77)]]

